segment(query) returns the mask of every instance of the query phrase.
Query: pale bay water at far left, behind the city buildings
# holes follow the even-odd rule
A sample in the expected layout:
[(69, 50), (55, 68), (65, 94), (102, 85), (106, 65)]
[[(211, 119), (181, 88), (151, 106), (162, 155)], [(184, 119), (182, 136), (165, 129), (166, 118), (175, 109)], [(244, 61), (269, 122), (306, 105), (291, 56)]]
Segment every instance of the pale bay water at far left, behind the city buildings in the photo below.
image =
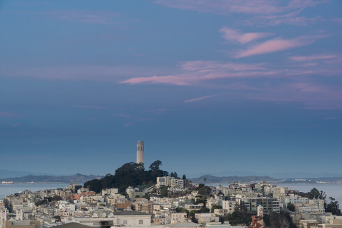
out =
[(0, 199), (14, 193), (19, 193), (22, 190), (37, 190), (65, 188), (68, 184), (0, 184)]

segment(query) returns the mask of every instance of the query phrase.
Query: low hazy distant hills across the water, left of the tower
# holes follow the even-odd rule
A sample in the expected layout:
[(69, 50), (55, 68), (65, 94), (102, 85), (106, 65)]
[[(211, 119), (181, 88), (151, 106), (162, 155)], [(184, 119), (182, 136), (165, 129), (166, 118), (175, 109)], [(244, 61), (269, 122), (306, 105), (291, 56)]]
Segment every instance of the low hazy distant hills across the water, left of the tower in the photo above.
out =
[(8, 177), (0, 179), (1, 181), (13, 181), (14, 183), (26, 183), (26, 182), (34, 182), (34, 183), (79, 183), (83, 184), (86, 181), (92, 179), (100, 179), (100, 176), (95, 175), (84, 175), (84, 174), (74, 174), (69, 176), (51, 176), (51, 175), (28, 175), (24, 177)]

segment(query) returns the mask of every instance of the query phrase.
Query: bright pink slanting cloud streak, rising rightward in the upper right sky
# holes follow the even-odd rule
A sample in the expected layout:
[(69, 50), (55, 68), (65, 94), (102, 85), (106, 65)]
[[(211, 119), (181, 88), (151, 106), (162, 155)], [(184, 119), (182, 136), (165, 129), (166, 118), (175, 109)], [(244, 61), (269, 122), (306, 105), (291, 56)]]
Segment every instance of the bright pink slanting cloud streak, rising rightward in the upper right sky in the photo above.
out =
[(309, 44), (312, 44), (316, 40), (320, 38), (324, 38), (324, 35), (310, 35), (310, 36), (300, 36), (298, 38), (293, 39), (282, 39), (282, 38), (275, 38), (273, 40), (267, 40), (262, 42), (261, 44), (256, 44), (249, 49), (239, 51), (238, 54), (235, 56), (236, 58), (243, 58), (247, 56), (254, 56), (260, 54), (267, 54), (277, 51), (284, 51), (287, 49), (292, 49), (295, 47), (302, 47)]

